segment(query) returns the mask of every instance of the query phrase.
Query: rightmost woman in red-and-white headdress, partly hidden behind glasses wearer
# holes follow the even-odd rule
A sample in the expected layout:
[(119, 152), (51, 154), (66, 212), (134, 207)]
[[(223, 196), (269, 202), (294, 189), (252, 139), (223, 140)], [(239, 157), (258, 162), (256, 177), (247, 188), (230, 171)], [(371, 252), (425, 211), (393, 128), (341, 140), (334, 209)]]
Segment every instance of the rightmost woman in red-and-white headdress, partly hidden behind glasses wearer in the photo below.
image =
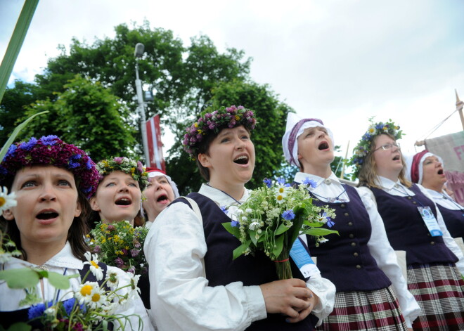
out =
[(442, 157), (428, 150), (407, 157), (407, 177), (422, 185), (432, 196), (449, 234), (453, 238), (464, 238), (464, 207), (459, 205), (445, 190), (446, 176)]

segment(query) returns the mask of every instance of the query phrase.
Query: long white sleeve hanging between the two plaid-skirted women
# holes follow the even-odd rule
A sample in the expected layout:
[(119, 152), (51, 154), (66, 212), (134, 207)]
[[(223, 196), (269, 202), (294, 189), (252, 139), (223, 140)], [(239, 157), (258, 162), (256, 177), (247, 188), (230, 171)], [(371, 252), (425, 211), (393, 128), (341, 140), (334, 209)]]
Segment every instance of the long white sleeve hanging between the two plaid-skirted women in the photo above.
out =
[(420, 314), (420, 306), (415, 301), (413, 294), (408, 290), (408, 284), (397, 262), (397, 254), (395, 254), (394, 249), (388, 241), (382, 216), (378, 213), (377, 205), (375, 205), (369, 193), (370, 190), (368, 191), (368, 188), (357, 190), (364, 207), (366, 207), (372, 225), (372, 233), (368, 241), (370, 254), (372, 254), (379, 268), (392, 282), (397, 292), (399, 306), (401, 307), (404, 320), (406, 320), (406, 325), (411, 327), (415, 318)]

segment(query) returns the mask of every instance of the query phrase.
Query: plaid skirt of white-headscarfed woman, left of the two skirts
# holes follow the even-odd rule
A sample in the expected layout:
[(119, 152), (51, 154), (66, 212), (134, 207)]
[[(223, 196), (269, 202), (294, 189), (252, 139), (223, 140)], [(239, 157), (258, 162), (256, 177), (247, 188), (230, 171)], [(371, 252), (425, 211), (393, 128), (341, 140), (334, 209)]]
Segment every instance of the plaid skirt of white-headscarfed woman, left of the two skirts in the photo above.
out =
[(337, 292), (333, 312), (316, 330), (407, 330), (392, 285), (368, 292)]

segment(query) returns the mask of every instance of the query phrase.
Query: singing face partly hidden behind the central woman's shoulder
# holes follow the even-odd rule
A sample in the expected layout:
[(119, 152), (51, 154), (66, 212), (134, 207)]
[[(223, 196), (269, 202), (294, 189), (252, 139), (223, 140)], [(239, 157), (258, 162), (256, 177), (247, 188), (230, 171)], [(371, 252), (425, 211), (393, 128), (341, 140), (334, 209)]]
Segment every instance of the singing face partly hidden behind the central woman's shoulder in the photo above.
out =
[(142, 202), (142, 205), (148, 215), (148, 221), (154, 221), (158, 214), (174, 200), (174, 191), (165, 176), (149, 178), (143, 195), (146, 200)]

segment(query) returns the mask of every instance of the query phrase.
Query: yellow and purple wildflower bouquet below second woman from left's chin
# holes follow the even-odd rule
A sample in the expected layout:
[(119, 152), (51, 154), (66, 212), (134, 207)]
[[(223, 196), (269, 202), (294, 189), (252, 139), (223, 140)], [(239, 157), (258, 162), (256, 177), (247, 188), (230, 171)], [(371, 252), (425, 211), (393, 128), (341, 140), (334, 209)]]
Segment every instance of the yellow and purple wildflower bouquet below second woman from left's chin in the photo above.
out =
[(89, 246), (98, 258), (109, 266), (141, 275), (147, 273), (143, 242), (148, 228), (131, 226), (128, 221), (98, 223), (87, 235)]

